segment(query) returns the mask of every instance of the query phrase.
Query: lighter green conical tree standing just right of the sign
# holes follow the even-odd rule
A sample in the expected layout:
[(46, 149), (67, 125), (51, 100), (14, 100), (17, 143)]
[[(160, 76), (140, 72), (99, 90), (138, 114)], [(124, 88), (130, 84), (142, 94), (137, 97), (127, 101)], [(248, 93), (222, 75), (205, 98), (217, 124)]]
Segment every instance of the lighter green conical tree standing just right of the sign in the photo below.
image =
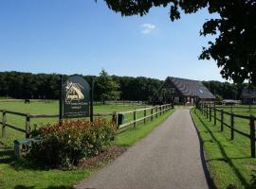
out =
[(105, 104), (105, 100), (118, 100), (120, 96), (119, 83), (107, 74), (105, 70), (101, 70), (100, 77), (97, 80), (98, 93), (100, 99)]

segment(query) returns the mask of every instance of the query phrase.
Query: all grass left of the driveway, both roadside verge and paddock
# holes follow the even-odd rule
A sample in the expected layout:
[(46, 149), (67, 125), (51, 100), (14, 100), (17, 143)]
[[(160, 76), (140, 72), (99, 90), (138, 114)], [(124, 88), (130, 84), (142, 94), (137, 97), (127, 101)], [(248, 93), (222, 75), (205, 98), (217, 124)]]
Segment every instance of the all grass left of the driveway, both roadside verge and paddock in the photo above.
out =
[[(29, 113), (57, 113), (58, 112), (58, 102), (53, 103), (42, 103), (33, 102), (29, 104), (23, 104), (22, 102), (11, 102), (11, 103), (1, 103), (0, 109), (5, 108), (12, 111), (18, 112), (29, 112)], [(95, 112), (108, 113), (108, 112), (123, 112), (130, 111), (134, 109), (141, 109), (141, 106), (95, 106)], [(154, 118), (154, 121), (147, 120), (147, 124), (143, 125), (141, 122), (137, 125), (136, 129), (130, 127), (119, 135), (116, 136), (113, 145), (115, 146), (131, 146), (137, 142), (137, 140), (145, 137), (152, 129), (155, 129), (162, 121), (164, 121), (174, 110), (166, 112), (158, 118)], [(138, 113), (138, 117), (142, 116), (143, 112)], [(126, 116), (126, 121), (129, 121), (132, 117), (131, 115)], [(12, 123), (20, 124), (20, 127), (25, 127), (25, 120), (22, 118), (8, 117)], [(36, 124), (55, 122), (56, 119), (47, 120), (37, 120)], [(9, 136), (15, 136), (12, 129), (7, 130), (7, 138)], [(17, 135), (23, 137), (22, 135)], [(0, 138), (2, 141), (2, 138)], [(9, 140), (11, 141), (11, 140)], [(101, 163), (104, 166), (106, 163)], [(0, 146), (0, 188), (10, 189), (10, 188), (30, 188), (30, 189), (41, 189), (41, 188), (58, 188), (65, 189), (70, 188), (76, 182), (90, 177), (90, 175), (95, 172), (96, 169), (77, 169), (77, 170), (58, 170), (58, 169), (40, 169), (25, 167), (23, 163), (16, 161), (12, 155), (12, 148)]]

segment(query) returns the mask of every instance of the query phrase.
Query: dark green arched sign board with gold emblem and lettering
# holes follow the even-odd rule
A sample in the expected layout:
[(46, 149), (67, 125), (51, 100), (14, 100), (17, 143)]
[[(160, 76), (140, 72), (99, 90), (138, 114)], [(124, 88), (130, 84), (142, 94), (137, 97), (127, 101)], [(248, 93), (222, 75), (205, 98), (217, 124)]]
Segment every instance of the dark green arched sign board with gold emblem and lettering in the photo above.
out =
[(90, 115), (90, 86), (84, 78), (69, 77), (64, 82), (62, 90), (64, 118), (88, 117)]

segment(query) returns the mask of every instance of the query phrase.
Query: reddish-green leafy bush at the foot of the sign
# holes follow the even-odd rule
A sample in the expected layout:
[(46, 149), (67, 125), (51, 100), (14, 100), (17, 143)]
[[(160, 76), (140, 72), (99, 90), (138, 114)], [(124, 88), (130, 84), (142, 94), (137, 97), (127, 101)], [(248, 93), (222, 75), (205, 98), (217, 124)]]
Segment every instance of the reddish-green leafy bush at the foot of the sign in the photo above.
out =
[(86, 120), (66, 120), (62, 124), (46, 125), (37, 130), (35, 143), (28, 159), (51, 166), (70, 167), (82, 158), (95, 156), (104, 146), (109, 146), (116, 128), (112, 122), (97, 119), (93, 123)]

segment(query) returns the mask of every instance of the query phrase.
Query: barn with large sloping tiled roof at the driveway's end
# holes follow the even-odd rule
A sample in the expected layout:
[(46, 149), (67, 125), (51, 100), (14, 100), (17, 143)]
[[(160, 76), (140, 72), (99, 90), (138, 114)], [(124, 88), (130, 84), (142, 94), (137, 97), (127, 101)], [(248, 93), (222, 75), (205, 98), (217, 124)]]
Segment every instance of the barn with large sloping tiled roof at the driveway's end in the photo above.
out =
[(175, 104), (196, 104), (198, 101), (215, 101), (215, 96), (199, 80), (167, 77), (157, 91), (156, 101)]

